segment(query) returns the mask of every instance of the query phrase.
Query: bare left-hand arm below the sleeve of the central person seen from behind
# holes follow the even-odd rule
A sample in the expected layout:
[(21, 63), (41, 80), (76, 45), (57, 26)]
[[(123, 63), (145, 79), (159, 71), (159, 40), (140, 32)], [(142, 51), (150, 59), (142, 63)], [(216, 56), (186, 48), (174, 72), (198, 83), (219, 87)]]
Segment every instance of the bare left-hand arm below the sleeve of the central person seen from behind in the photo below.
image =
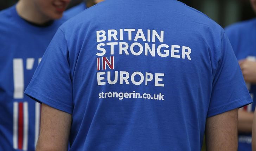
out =
[(36, 151), (66, 151), (71, 114), (42, 104), (40, 133)]

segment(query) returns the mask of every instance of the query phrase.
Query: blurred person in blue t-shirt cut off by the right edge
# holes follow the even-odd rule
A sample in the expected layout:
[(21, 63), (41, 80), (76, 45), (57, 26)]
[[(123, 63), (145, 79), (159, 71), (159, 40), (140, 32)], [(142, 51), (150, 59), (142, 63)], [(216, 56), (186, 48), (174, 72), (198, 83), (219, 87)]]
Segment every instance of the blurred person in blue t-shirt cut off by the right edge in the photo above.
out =
[[(256, 0), (251, 0), (256, 12)], [(251, 150), (253, 112), (256, 105), (256, 19), (238, 22), (225, 29), (254, 103), (238, 111), (238, 151)]]

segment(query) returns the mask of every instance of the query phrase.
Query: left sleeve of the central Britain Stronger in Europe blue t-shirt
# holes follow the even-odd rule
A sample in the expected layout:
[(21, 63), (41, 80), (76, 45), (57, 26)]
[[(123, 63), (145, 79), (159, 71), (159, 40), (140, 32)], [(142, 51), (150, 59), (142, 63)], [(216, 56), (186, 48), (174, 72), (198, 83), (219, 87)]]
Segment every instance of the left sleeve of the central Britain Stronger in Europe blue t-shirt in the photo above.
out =
[(48, 46), (25, 94), (34, 100), (72, 114), (72, 80), (69, 51), (61, 29)]

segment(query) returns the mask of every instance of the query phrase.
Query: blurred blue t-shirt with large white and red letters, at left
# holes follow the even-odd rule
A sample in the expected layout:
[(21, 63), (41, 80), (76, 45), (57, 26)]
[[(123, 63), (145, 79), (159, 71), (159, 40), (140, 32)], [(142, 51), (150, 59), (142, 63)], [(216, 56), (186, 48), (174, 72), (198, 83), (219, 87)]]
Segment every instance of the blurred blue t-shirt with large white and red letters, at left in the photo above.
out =
[(64, 19), (37, 27), (15, 6), (0, 12), (0, 150), (35, 149), (40, 104), (24, 95), (41, 57)]

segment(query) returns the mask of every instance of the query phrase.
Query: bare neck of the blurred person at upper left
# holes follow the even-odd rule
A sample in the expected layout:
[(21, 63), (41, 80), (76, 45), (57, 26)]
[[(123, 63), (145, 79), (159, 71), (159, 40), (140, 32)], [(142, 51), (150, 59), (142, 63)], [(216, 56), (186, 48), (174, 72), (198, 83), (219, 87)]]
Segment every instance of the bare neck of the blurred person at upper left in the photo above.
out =
[(38, 12), (31, 0), (19, 0), (16, 10), (21, 18), (35, 24), (45, 24), (45, 22), (51, 20), (49, 17)]

